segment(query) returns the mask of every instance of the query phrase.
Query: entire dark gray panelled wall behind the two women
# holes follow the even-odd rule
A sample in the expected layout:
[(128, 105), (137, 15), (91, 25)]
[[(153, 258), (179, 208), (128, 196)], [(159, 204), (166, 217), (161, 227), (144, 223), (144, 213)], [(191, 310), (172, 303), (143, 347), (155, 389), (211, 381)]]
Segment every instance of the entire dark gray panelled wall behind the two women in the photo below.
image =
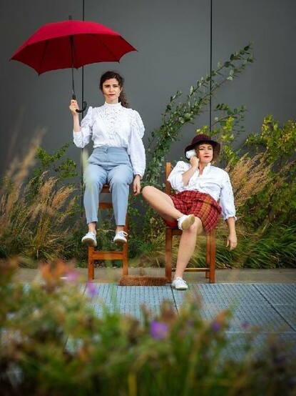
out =
[[(161, 114), (175, 91), (190, 85), (210, 69), (210, 0), (86, 0), (85, 19), (121, 33), (138, 52), (117, 63), (84, 67), (84, 99), (103, 104), (98, 77), (116, 69), (126, 77), (126, 93), (150, 132), (160, 126)], [(1, 140), (0, 169), (21, 155), (30, 137), (46, 128), (42, 146), (50, 152), (71, 141), (70, 69), (38, 76), (29, 66), (9, 61), (11, 55), (41, 25), (83, 18), (83, 1), (27, 0), (0, 2)], [(213, 0), (213, 66), (253, 41), (255, 63), (218, 94), (218, 102), (247, 106), (246, 132), (258, 132), (263, 117), (274, 114), (284, 122), (295, 118), (296, 2), (294, 0)], [(81, 101), (81, 69), (75, 71), (76, 95)], [(185, 127), (183, 140), (173, 144), (169, 158), (188, 144), (208, 115)], [(88, 148), (91, 151), (91, 147)], [(80, 150), (69, 156), (79, 163)]]

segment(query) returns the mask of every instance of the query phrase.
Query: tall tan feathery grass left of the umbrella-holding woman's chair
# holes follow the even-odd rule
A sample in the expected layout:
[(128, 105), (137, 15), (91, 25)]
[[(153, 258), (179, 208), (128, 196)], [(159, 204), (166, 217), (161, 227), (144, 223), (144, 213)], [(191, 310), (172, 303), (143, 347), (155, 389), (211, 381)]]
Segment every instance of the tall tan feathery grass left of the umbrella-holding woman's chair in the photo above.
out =
[[(49, 260), (64, 257), (67, 234), (76, 212), (74, 187), (58, 187), (58, 178), (44, 172), (38, 182), (29, 178), (34, 164), (35, 138), (21, 162), (4, 175), (0, 199), (0, 257)], [(37, 189), (36, 189), (37, 184)]]

